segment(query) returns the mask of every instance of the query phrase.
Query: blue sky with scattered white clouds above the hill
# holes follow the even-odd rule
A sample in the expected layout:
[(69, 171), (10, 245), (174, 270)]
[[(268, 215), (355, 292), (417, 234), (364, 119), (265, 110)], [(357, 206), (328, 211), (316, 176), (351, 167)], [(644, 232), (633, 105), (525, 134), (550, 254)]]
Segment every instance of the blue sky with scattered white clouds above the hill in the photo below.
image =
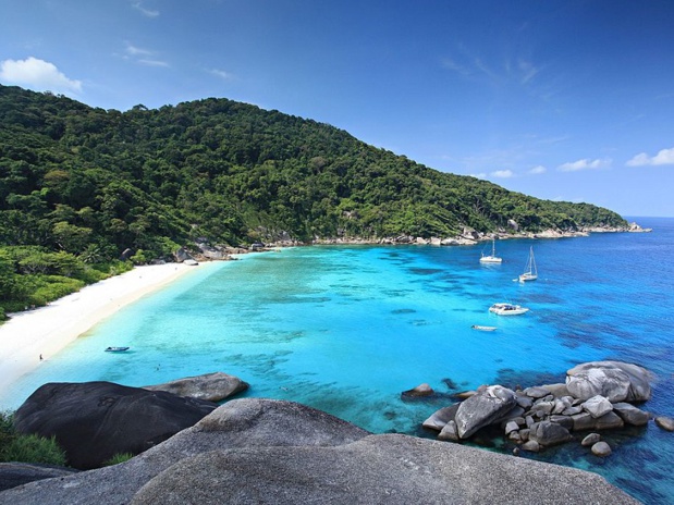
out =
[(674, 217), (671, 0), (22, 0), (0, 83), (103, 109), (207, 97), (433, 169)]

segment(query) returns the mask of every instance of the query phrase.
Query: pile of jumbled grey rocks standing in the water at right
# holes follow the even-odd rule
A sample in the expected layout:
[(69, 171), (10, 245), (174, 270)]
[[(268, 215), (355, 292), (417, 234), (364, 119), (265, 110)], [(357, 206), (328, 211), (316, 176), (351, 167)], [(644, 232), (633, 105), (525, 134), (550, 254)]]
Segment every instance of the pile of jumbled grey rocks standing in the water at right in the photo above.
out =
[[(648, 423), (651, 416), (632, 404), (651, 396), (651, 375), (646, 369), (622, 361), (593, 361), (566, 373), (565, 384), (517, 391), (481, 386), (463, 402), (436, 411), (422, 426), (439, 431), (440, 440), (459, 441), (497, 424), (518, 449), (538, 452), (573, 440), (572, 432)], [(658, 419), (659, 426), (667, 422), (667, 418)], [(584, 439), (584, 445), (590, 441), (593, 454), (610, 454), (599, 435)]]

